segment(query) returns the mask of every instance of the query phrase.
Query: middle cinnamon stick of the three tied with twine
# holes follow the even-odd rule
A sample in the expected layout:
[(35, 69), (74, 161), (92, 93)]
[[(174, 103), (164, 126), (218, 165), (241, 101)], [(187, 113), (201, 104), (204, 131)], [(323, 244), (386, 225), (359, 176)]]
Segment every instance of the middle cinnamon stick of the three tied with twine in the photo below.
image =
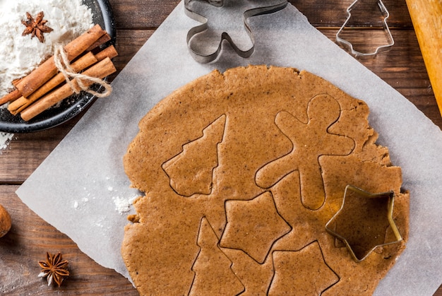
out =
[[(74, 61), (71, 64), (71, 68), (73, 69), (73, 71), (79, 72), (88, 68), (88, 66), (95, 64), (97, 61), (97, 58), (92, 54), (92, 52), (88, 52), (87, 54), (83, 55), (83, 57), (80, 57), (80, 59), (78, 59), (77, 61)], [(52, 77), (49, 81), (47, 81), (47, 83), (44, 83), (42, 87), (32, 93), (29, 97), (21, 96), (20, 98), (18, 98), (18, 100), (9, 104), (9, 112), (11, 112), (11, 114), (13, 115), (22, 112), (23, 109), (31, 105), (32, 102), (35, 102), (46, 93), (49, 93), (49, 91), (53, 90), (56, 86), (64, 81), (65, 78), (63, 73), (57, 73), (56, 76)]]

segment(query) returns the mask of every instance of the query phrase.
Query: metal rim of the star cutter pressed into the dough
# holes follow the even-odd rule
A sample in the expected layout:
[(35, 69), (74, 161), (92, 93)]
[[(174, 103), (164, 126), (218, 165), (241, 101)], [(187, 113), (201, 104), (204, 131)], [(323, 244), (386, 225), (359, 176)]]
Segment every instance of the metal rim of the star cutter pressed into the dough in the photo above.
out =
[[(387, 219), (388, 219), (389, 227), (393, 231), (393, 235), (396, 240), (394, 240), (392, 242), (385, 242), (384, 241), (382, 244), (376, 244), (376, 245), (374, 245), (374, 247), (372, 247), (371, 249), (366, 251), (364, 256), (357, 256), (356, 252), (354, 251), (354, 246), (352, 246), (352, 244), (350, 244), (350, 242), (349, 242), (350, 239), (348, 237), (341, 235), (340, 233), (338, 233), (339, 231), (336, 231), (330, 227), (330, 224), (335, 223), (335, 221), (338, 219), (338, 217), (344, 212), (343, 209), (345, 208), (346, 198), (348, 199), (350, 192), (352, 192), (352, 194), (357, 194), (357, 196), (362, 197), (362, 198), (366, 198), (366, 199), (388, 199)], [(347, 185), (347, 187), (345, 187), (345, 193), (344, 193), (344, 199), (342, 201), (342, 206), (341, 206), (340, 210), (337, 213), (335, 213), (335, 215), (333, 215), (333, 217), (325, 225), (325, 230), (327, 230), (330, 233), (330, 235), (337, 237), (338, 239), (340, 239), (342, 242), (345, 243), (345, 246), (350, 251), (350, 254), (352, 255), (354, 261), (361, 262), (364, 259), (366, 259), (371, 254), (371, 252), (374, 251), (374, 249), (376, 249), (377, 247), (383, 247), (388, 244), (395, 244), (397, 242), (402, 241), (402, 236), (400, 235), (398, 227), (396, 227), (395, 222), (393, 220), (393, 206), (394, 206), (394, 193), (393, 193), (393, 191), (388, 191), (388, 192), (383, 192), (383, 193), (378, 193), (378, 194), (371, 194), (367, 191), (364, 191), (364, 190), (354, 187), (352, 185)]]

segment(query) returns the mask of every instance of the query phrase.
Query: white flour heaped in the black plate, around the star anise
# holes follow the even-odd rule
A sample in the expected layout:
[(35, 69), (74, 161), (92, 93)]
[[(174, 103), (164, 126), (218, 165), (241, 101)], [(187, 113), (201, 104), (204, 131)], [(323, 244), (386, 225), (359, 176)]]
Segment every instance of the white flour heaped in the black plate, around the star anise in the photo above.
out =
[[(66, 44), (92, 28), (92, 12), (81, 0), (0, 0), (0, 97), (12, 90), (11, 82), (35, 69), (52, 56), (54, 45)], [(22, 36), (27, 20), (44, 12), (44, 43), (31, 35)]]

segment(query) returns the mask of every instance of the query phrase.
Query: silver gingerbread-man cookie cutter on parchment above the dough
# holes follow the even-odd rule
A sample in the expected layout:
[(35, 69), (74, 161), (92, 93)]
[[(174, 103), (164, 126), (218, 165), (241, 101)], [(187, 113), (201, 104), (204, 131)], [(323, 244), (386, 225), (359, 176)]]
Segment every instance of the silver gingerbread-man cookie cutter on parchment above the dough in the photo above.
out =
[[(232, 35), (230, 35), (229, 32), (222, 31), (222, 33), (220, 33), (219, 40), (217, 40), (216, 49), (213, 49), (210, 52), (203, 50), (201, 40), (196, 40), (196, 37), (203, 32), (207, 32), (210, 29), (211, 24), (210, 13), (208, 13), (209, 16), (205, 15), (204, 11), (201, 11), (201, 6), (206, 6), (207, 8), (217, 8), (220, 11), (224, 10), (224, 12), (228, 11), (228, 9), (239, 10), (242, 13), (242, 23), (244, 25), (246, 34), (249, 35), (251, 45), (247, 46), (246, 48), (241, 48), (241, 45), (239, 45), (238, 42), (232, 38)], [(255, 37), (248, 23), (248, 18), (251, 18), (252, 16), (275, 13), (286, 6), (287, 0), (184, 0), (184, 12), (186, 15), (201, 23), (201, 25), (191, 28), (187, 33), (186, 42), (191, 57), (202, 64), (215, 61), (215, 59), (217, 59), (217, 57), (220, 55), (223, 41), (227, 41), (234, 51), (237, 52), (239, 57), (250, 57), (255, 50)], [(193, 43), (195, 42), (199, 42), (200, 44), (193, 47)]]

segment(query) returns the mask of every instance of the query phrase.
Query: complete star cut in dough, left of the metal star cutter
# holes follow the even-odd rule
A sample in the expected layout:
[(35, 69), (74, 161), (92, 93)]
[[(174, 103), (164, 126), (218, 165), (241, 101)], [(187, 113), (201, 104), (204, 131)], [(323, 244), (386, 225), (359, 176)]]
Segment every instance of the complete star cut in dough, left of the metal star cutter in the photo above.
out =
[(220, 246), (240, 249), (263, 264), (274, 242), (290, 227), (277, 212), (270, 191), (250, 201), (226, 201), (227, 225)]

